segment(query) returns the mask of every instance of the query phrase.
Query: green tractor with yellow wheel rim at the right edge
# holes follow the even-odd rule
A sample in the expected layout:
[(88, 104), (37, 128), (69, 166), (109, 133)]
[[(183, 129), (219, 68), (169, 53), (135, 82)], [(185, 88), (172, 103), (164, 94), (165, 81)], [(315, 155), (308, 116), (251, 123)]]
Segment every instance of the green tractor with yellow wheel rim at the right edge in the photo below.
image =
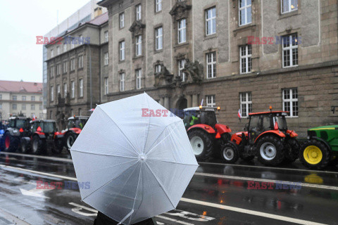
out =
[(338, 125), (308, 129), (308, 140), (299, 152), (299, 159), (308, 168), (322, 169), (338, 163)]

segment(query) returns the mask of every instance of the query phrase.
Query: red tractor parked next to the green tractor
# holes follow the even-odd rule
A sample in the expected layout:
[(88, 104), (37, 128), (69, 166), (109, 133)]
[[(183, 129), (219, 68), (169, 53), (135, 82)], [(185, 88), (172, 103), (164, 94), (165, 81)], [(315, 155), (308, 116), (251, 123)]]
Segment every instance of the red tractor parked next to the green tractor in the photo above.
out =
[(264, 165), (279, 165), (281, 162), (294, 162), (299, 155), (299, 143), (294, 131), (287, 129), (288, 112), (272, 111), (250, 113), (249, 124), (244, 132), (232, 135), (224, 148), (239, 152), (242, 160), (252, 160), (257, 155)]

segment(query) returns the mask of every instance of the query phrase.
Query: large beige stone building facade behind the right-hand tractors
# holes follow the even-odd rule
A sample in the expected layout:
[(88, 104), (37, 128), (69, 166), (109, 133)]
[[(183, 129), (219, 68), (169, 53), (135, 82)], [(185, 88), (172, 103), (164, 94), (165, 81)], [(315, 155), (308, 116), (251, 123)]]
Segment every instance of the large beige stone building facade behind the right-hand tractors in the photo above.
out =
[(270, 105), (290, 111), (289, 128), (301, 136), (309, 127), (338, 122), (331, 111), (338, 105), (337, 0), (99, 5), (108, 9), (99, 103), (144, 91), (168, 109), (198, 106), (203, 99), (220, 106), (219, 122), (233, 131), (243, 129), (248, 113)]

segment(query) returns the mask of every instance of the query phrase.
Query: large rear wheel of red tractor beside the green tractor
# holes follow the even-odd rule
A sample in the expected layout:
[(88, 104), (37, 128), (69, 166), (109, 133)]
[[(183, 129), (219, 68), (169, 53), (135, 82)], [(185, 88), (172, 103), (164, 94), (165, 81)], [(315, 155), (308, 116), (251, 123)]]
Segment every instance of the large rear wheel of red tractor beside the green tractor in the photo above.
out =
[(264, 165), (279, 165), (285, 157), (282, 140), (276, 136), (264, 136), (257, 143), (257, 154)]

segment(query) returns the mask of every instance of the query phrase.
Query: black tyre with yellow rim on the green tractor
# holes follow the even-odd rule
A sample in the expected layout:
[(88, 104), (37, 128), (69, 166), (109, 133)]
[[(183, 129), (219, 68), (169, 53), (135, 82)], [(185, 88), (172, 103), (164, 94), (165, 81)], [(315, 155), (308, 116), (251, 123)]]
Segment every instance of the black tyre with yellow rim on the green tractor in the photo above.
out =
[(324, 143), (311, 139), (301, 146), (299, 159), (308, 168), (322, 169), (330, 162), (330, 150)]

